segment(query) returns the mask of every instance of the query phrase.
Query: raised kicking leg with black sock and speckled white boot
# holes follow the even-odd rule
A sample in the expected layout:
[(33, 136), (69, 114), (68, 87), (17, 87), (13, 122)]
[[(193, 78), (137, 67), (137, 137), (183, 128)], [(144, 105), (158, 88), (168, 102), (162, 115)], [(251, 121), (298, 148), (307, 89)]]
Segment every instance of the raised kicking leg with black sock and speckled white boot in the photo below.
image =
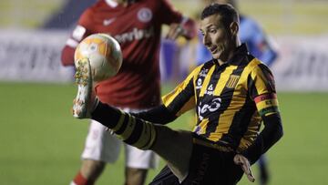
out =
[[(86, 62), (81, 62), (79, 65), (77, 73), (87, 73), (88, 75), (76, 76), (77, 82), (82, 82), (82, 85), (77, 89), (77, 100), (73, 106), (73, 112), (75, 114), (80, 113), (75, 117), (89, 118), (91, 115), (91, 118), (111, 128), (118, 135), (118, 138), (128, 145), (138, 149), (155, 151), (160, 157), (167, 160), (170, 169), (179, 180), (183, 180), (188, 175), (192, 148), (191, 132), (176, 131), (156, 125), (101, 102), (97, 102), (97, 107), (94, 108), (95, 103), (91, 103), (92, 77), (89, 73), (90, 66)], [(90, 113), (91, 111), (92, 113)]]

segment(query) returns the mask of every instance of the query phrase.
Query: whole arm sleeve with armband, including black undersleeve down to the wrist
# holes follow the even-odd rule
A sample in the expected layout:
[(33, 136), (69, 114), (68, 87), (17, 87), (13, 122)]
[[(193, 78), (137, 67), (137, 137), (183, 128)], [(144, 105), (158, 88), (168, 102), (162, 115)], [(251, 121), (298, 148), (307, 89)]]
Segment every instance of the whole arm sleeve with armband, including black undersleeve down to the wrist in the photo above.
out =
[(251, 70), (249, 91), (263, 120), (264, 128), (248, 149), (241, 152), (253, 164), (261, 155), (282, 138), (282, 118), (278, 110), (278, 100), (272, 72), (259, 64)]

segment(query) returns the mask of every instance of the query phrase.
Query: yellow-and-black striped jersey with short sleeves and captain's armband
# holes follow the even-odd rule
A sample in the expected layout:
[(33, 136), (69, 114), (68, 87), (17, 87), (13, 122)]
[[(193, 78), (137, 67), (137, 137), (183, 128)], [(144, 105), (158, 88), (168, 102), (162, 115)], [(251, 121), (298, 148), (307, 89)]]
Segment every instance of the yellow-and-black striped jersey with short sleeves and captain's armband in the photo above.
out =
[(195, 108), (196, 134), (243, 150), (256, 139), (261, 116), (278, 113), (274, 86), (270, 69), (241, 45), (223, 65), (213, 59), (196, 67), (162, 99), (176, 116)]

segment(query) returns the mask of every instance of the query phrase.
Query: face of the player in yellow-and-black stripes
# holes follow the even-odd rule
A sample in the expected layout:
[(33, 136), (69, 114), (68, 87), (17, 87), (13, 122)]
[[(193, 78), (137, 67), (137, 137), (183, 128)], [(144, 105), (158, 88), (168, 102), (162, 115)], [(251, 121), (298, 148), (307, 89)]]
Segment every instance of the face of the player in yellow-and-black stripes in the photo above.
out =
[(221, 22), (220, 15), (210, 15), (200, 21), (203, 44), (210, 50), (213, 58), (226, 62), (235, 46), (231, 30)]

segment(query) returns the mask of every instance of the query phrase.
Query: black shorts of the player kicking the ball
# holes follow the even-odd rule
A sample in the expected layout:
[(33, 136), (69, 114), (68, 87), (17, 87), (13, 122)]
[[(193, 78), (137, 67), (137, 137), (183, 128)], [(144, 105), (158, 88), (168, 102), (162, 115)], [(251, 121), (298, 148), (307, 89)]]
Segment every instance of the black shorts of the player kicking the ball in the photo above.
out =
[(179, 180), (166, 166), (150, 185), (234, 185), (243, 171), (233, 162), (233, 149), (194, 137), (188, 177)]

